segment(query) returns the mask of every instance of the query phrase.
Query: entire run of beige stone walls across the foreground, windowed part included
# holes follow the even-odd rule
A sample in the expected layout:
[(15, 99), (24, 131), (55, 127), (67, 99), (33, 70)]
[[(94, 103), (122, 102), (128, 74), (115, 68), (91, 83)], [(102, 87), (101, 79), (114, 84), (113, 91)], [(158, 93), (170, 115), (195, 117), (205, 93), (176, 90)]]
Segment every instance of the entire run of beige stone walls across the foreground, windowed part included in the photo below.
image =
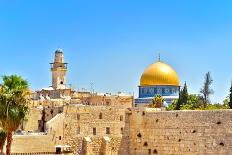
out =
[[(83, 155), (227, 155), (232, 111), (160, 111), (114, 106), (64, 107), (47, 122), (48, 135), (16, 136), (13, 152), (53, 151), (70, 145)], [(108, 132), (108, 133), (107, 133)]]

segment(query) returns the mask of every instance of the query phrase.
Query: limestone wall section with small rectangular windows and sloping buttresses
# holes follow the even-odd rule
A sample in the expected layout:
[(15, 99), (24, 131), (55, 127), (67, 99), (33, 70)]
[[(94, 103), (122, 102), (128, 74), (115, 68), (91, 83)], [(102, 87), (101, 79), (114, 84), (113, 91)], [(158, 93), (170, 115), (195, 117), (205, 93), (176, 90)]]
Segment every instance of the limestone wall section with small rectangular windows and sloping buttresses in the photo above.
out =
[[(104, 152), (110, 149), (112, 155), (118, 154), (125, 126), (125, 110), (114, 106), (65, 107), (65, 144), (72, 146), (74, 153), (83, 151), (98, 155), (107, 154)], [(109, 133), (106, 133), (107, 128)]]

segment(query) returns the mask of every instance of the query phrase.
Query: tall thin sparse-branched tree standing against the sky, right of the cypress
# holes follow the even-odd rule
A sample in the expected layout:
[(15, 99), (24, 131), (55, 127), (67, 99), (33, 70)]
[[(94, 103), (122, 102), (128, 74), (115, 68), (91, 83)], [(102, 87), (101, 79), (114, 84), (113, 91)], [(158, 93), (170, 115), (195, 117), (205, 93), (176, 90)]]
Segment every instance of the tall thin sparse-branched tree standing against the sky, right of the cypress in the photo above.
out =
[(207, 103), (209, 103), (209, 95), (213, 94), (213, 89), (210, 88), (210, 85), (213, 83), (213, 79), (210, 75), (210, 72), (205, 75), (205, 82), (203, 87), (200, 90), (200, 93), (203, 96), (203, 106), (207, 107)]

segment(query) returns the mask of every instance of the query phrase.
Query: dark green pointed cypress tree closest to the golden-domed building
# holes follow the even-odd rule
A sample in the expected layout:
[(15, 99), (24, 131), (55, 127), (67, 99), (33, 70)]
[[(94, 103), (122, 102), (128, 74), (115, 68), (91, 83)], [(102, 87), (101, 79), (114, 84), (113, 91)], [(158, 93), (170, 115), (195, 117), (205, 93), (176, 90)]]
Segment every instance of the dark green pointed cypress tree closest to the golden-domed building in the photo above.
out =
[(188, 102), (188, 87), (186, 82), (184, 83), (183, 89), (180, 89), (179, 99), (176, 102), (175, 110), (180, 110), (183, 104), (187, 104)]

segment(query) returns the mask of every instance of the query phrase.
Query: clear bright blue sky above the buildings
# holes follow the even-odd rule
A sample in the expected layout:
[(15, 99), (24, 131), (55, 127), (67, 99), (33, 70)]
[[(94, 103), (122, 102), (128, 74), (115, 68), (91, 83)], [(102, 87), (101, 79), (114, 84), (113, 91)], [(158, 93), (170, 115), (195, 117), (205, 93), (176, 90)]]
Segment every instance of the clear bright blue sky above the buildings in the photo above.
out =
[(190, 93), (204, 74), (213, 102), (232, 80), (232, 1), (0, 0), (0, 74), (19, 74), (33, 89), (51, 84), (49, 62), (62, 48), (76, 89), (134, 92), (157, 59), (173, 66)]

